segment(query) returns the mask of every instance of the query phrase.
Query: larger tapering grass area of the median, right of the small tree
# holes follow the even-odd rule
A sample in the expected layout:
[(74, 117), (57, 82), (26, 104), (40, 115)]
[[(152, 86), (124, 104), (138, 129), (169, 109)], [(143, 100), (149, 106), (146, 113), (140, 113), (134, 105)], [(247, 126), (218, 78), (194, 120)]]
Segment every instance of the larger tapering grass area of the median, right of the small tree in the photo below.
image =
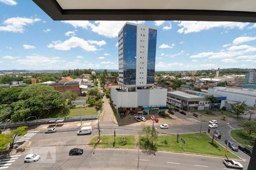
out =
[[(182, 134), (180, 138), (185, 140), (185, 145), (182, 142), (176, 142), (176, 135), (161, 135), (158, 137), (158, 150), (175, 151), (175, 152), (189, 152), (196, 154), (206, 154), (214, 156), (225, 156), (225, 148), (218, 145), (214, 141), (212, 145), (212, 138), (205, 133)], [(238, 158), (236, 155), (228, 152), (229, 158)]]

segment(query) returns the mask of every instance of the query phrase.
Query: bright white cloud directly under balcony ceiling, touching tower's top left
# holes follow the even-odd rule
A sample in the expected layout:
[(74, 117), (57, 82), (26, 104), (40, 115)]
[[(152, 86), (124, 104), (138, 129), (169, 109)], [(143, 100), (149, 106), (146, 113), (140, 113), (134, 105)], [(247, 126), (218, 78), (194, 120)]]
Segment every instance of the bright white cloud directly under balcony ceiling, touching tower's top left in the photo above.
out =
[[(114, 38), (118, 36), (118, 32), (126, 23), (126, 21), (95, 21), (94, 23), (90, 23), (86, 20), (71, 20), (71, 21), (62, 21), (63, 23), (68, 23), (73, 25), (73, 27), (82, 27), (84, 29), (88, 29), (89, 27), (93, 32), (98, 33), (98, 35), (102, 35), (108, 38)], [(128, 21), (131, 23), (143, 24), (144, 21)]]

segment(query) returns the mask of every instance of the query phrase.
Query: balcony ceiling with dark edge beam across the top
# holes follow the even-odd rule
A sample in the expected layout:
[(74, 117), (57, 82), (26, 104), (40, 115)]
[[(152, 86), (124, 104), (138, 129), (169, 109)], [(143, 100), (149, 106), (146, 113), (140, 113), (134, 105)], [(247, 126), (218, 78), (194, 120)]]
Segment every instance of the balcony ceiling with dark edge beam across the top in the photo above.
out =
[(255, 0), (32, 0), (53, 20), (255, 22)]

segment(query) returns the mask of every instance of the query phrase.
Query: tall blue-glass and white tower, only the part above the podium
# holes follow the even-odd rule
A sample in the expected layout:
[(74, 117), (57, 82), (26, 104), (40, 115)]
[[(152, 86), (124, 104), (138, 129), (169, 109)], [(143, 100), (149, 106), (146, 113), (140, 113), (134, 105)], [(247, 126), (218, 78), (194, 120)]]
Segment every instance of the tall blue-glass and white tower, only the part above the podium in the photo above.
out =
[(157, 30), (126, 23), (118, 33), (119, 86), (147, 87), (154, 84)]

